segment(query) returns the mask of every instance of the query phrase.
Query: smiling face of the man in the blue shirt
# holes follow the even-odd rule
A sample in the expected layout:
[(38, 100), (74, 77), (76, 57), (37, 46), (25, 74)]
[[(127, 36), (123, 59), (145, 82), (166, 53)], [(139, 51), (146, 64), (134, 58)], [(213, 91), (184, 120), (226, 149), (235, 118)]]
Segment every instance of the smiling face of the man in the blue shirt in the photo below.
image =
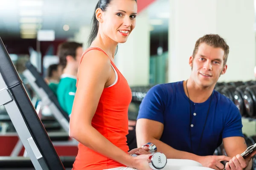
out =
[(192, 67), (192, 77), (202, 88), (215, 86), (221, 74), (225, 74), (227, 65), (224, 64), (224, 50), (201, 43), (195, 57), (189, 58)]

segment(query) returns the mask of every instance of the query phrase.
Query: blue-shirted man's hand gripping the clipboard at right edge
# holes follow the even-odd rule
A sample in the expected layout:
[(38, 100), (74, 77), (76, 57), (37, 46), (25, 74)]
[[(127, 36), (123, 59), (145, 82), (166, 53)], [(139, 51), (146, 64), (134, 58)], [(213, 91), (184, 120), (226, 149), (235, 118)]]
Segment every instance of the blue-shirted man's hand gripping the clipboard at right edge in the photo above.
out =
[(229, 162), (226, 163), (226, 165), (225, 165), (226, 170), (244, 170), (248, 166), (251, 158), (255, 154), (256, 154), (256, 150), (253, 151), (250, 154), (250, 156), (248, 156), (245, 159), (239, 154), (234, 156), (232, 159), (230, 159)]

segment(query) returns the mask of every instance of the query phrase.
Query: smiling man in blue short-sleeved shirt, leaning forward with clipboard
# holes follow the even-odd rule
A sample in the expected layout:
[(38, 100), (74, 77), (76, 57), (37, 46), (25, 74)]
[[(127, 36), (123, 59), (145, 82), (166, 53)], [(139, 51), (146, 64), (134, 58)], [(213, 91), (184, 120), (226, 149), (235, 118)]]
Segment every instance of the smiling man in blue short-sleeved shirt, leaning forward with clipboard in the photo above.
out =
[[(152, 142), (169, 159), (191, 159), (215, 170), (224, 169), (221, 161), (228, 161), (226, 170), (250, 170), (255, 152), (247, 159), (239, 155), (247, 148), (239, 110), (214, 91), (227, 70), (228, 53), (229, 46), (219, 35), (205, 35), (197, 40), (189, 58), (188, 80), (148, 91), (137, 118), (139, 146)], [(213, 156), (222, 142), (227, 156)]]

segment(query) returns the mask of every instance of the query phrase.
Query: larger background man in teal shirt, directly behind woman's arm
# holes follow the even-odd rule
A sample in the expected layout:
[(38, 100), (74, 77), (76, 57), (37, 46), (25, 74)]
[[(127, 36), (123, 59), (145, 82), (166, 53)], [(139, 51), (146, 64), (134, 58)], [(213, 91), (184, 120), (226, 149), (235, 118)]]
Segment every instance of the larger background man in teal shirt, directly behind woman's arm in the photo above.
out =
[(64, 42), (58, 46), (59, 63), (63, 74), (58, 84), (57, 98), (61, 108), (70, 116), (76, 94), (76, 75), (80, 58), (83, 54), (82, 44)]

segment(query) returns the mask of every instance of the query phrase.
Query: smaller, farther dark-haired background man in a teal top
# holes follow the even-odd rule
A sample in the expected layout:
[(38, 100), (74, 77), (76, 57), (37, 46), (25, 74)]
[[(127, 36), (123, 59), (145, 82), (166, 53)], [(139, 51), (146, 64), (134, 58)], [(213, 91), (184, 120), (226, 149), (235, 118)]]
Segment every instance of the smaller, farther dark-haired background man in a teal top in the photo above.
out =
[(45, 79), (47, 84), (49, 85), (49, 88), (51, 88), (51, 90), (56, 96), (58, 83), (60, 81), (60, 77), (62, 74), (61, 70), (61, 66), (58, 64), (49, 65), (47, 69), (47, 78)]

